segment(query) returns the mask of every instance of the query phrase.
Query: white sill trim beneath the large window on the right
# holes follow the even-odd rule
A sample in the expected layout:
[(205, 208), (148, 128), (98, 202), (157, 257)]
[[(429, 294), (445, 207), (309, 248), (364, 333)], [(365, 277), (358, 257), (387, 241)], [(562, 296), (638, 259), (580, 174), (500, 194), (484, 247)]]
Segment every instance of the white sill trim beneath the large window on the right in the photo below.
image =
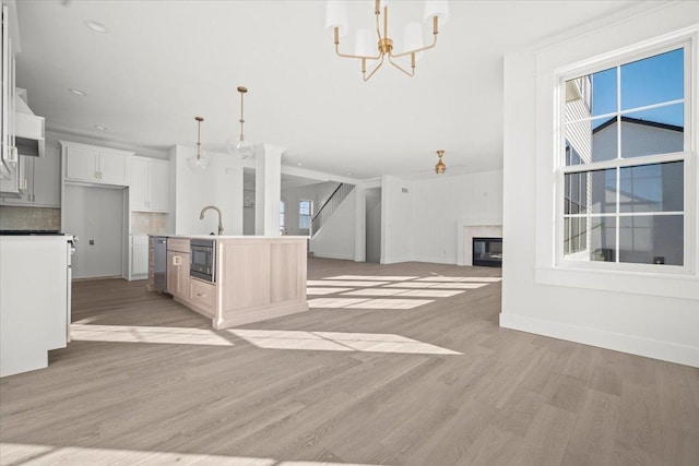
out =
[(604, 291), (699, 300), (699, 276), (536, 266), (534, 282)]

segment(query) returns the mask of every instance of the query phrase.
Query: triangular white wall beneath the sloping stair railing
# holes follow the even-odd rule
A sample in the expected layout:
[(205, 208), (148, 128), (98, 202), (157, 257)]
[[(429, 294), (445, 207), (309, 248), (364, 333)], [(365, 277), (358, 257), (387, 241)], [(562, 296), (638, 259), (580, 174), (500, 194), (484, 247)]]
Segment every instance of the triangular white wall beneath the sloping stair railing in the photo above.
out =
[(357, 192), (353, 190), (312, 239), (315, 256), (354, 261), (356, 200)]

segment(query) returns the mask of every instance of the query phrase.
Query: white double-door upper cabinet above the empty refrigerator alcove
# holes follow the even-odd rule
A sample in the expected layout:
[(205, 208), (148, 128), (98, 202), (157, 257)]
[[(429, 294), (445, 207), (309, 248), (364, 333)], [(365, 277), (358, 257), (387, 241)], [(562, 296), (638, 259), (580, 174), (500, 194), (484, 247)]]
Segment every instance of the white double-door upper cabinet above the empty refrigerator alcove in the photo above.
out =
[(128, 186), (127, 160), (133, 153), (61, 141), (66, 181)]

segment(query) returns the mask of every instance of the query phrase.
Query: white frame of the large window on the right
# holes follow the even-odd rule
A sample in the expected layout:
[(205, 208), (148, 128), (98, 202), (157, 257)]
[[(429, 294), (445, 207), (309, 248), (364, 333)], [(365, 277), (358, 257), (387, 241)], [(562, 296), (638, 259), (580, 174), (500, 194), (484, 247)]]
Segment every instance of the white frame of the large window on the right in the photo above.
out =
[[(695, 224), (697, 216), (697, 203), (695, 192), (696, 183), (699, 175), (697, 174), (696, 166), (696, 128), (697, 115), (695, 107), (697, 106), (696, 94), (696, 81), (697, 76), (697, 63), (696, 57), (696, 35), (682, 35), (680, 37), (673, 37), (671, 39), (653, 40), (652, 44), (641, 44), (631, 48), (619, 50), (607, 55), (602, 59), (588, 60), (583, 63), (572, 64), (566, 69), (555, 72), (556, 89), (554, 96), (555, 115), (554, 115), (554, 179), (555, 179), (555, 200), (554, 200), (554, 265), (561, 268), (578, 268), (587, 271), (612, 271), (612, 272), (629, 272), (629, 273), (652, 273), (652, 274), (694, 274), (696, 272), (697, 264), (695, 258), (697, 255), (697, 243)], [(678, 48), (684, 49), (684, 151), (665, 153), (660, 155), (645, 155), (630, 158), (614, 158), (612, 160), (592, 162), (583, 165), (570, 165), (566, 166), (566, 82), (576, 77), (590, 75), (599, 71), (604, 71), (609, 68), (623, 67), (627, 63), (642, 60), (656, 55), (661, 55), (667, 51), (676, 50)], [(617, 77), (618, 79), (618, 77)], [(621, 98), (623, 89), (617, 87), (617, 99)], [(673, 100), (667, 100), (673, 101)], [(640, 107), (643, 108), (643, 107)], [(625, 115), (635, 111), (619, 110), (614, 113)], [(636, 110), (637, 111), (637, 110)], [(594, 118), (603, 118), (604, 116), (597, 116)], [(617, 126), (617, 134), (621, 131), (620, 126)], [(620, 143), (620, 140), (617, 142)], [(617, 150), (618, 151), (618, 150)], [(618, 152), (617, 152), (618, 157)], [(684, 251), (683, 251), (683, 265), (668, 265), (668, 264), (639, 264), (630, 262), (604, 262), (604, 261), (580, 261), (576, 259), (567, 259), (565, 254), (565, 177), (568, 174), (577, 172), (591, 172), (594, 170), (603, 170), (614, 168), (617, 169), (617, 196), (618, 196), (618, 178), (620, 169), (623, 167), (660, 164), (666, 162), (683, 162), (684, 163)], [(617, 204), (618, 205), (618, 204)], [(656, 213), (648, 213), (649, 215), (656, 215)], [(670, 213), (662, 213), (661, 215), (670, 215)], [(593, 215), (592, 217), (612, 218), (633, 217), (633, 215), (625, 215), (625, 213), (615, 212), (607, 215)], [(576, 218), (576, 217), (571, 217)], [(589, 235), (589, 232), (588, 232)], [(619, 240), (619, 229), (616, 231), (617, 236), (617, 250)], [(589, 253), (588, 250), (583, 250)], [(616, 258), (618, 260), (618, 258)]]

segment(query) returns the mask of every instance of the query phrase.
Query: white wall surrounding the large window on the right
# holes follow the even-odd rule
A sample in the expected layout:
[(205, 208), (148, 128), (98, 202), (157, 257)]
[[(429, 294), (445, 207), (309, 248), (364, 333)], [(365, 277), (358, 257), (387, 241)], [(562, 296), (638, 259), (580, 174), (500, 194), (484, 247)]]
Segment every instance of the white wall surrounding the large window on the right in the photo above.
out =
[[(698, 17), (699, 2), (674, 2), (651, 14), (607, 17), (587, 25), (593, 34), (552, 39), (548, 48), (506, 57), (500, 325), (699, 366), (699, 299), (691, 295), (699, 290), (696, 275), (585, 273), (553, 262), (550, 134), (556, 69), (688, 26)], [(692, 145), (696, 150), (696, 141)]]

